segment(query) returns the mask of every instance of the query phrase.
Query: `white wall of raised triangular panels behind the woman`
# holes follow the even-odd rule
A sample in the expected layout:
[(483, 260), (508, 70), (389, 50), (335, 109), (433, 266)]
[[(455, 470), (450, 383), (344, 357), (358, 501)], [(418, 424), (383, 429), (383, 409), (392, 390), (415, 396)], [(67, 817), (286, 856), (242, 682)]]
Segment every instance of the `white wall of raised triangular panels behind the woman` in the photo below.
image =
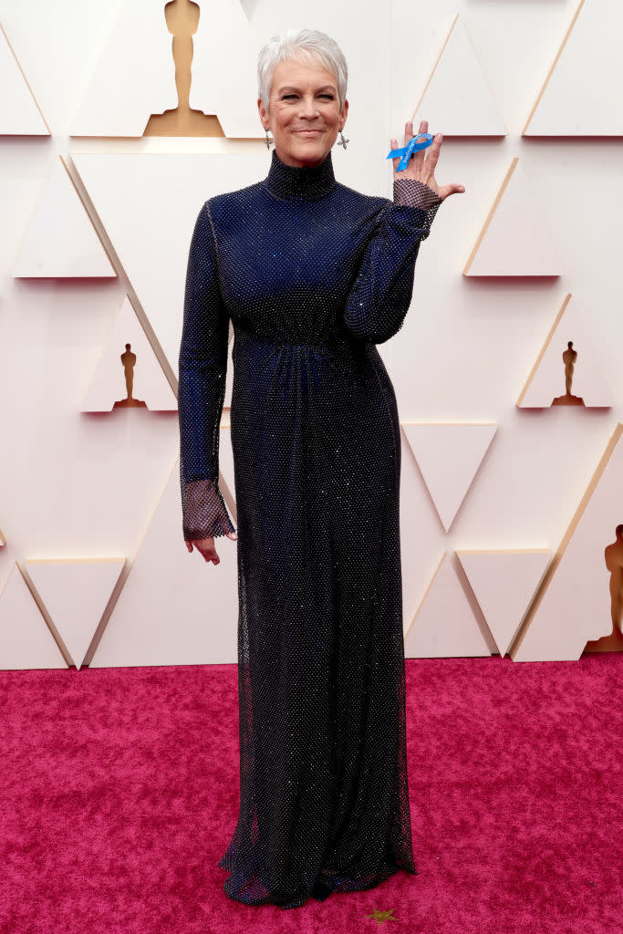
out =
[[(48, 136), (16, 133), (9, 126), (15, 115), (0, 106), (0, 669), (235, 660), (235, 544), (217, 540), (217, 567), (186, 550), (175, 409), (149, 409), (148, 398), (147, 409), (81, 411), (102, 367), (110, 373), (110, 406), (125, 394), (122, 371), (115, 376), (110, 363), (123, 347), (107, 342), (128, 295), (175, 393), (196, 213), (214, 191), (262, 177), (270, 160), (259, 119), (256, 139), (123, 136), (175, 106), (163, 7), (155, 0), (0, 0), (0, 24), (50, 127)], [(240, 79), (228, 70), (236, 55), (250, 54), (276, 29), (307, 25), (331, 33), (350, 68), (350, 142), (346, 152), (333, 151), (340, 181), (389, 196), (389, 138), (400, 137), (414, 110), (417, 123), (428, 119), (432, 133), (445, 134), (437, 180), (460, 182), (466, 192), (440, 208), (420, 249), (404, 328), (380, 346), (404, 425), (405, 646), (410, 656), (509, 648), (514, 656), (546, 553), (558, 552), (545, 577), (553, 587), (570, 523), (581, 518), (576, 510), (601, 478), (595, 472), (623, 420), (623, 65), (608, 45), (620, 35), (623, 7), (614, 0), (223, 0), (200, 7), (191, 106), (206, 113), (219, 107), (222, 125), (236, 125), (243, 92), (251, 114), (255, 106), (253, 68), (251, 78), (239, 69)], [(217, 49), (227, 52), (218, 87), (210, 55)], [(71, 135), (86, 132), (92, 135)], [(229, 153), (240, 158), (234, 174)], [(517, 175), (504, 187), (516, 159)], [(48, 194), (59, 170), (54, 200)], [(52, 207), (44, 211), (47, 197)], [(102, 256), (98, 271), (93, 263), (90, 272), (90, 260), (80, 267), (82, 236), (78, 221), (69, 230), (70, 202), (91, 218), (114, 271), (109, 264), (102, 271)], [(487, 268), (463, 275), (486, 225), (480, 258), (495, 275)], [(558, 275), (531, 275), (530, 225), (558, 258)], [(40, 277), (46, 243), (46, 260), (58, 271)], [(496, 256), (510, 275), (497, 274)], [(16, 277), (20, 269), (30, 273)], [(612, 406), (518, 408), (570, 293)], [(227, 416), (221, 471), (233, 491)], [(444, 440), (418, 423), (446, 423)], [(479, 468), (474, 438), (481, 430), (467, 446), (460, 441), (471, 423), (497, 426)], [(614, 541), (623, 521), (623, 478), (615, 471), (603, 477), (612, 509), (601, 525), (593, 522), (591, 554)], [(444, 497), (458, 501), (446, 525)], [(590, 496), (584, 504), (590, 519)], [(586, 536), (588, 526), (581, 522), (578, 534)], [(473, 590), (463, 573), (468, 562), (455, 552), (478, 550), (487, 573), (477, 585), (474, 573)], [(545, 561), (527, 563), (526, 552), (545, 552)], [(582, 548), (568, 554), (572, 560)], [(125, 559), (112, 580), (110, 559)], [(573, 560), (577, 579), (586, 565)], [(560, 601), (537, 600), (536, 616), (529, 613), (530, 626), (521, 630), (531, 651), (517, 660), (578, 658), (588, 639), (610, 632), (609, 575), (602, 562), (592, 563), (583, 615), (571, 613), (573, 591), (562, 625)], [(92, 605), (94, 577), (99, 607)], [(25, 614), (24, 590), (34, 614)], [(525, 634), (533, 626), (544, 635), (530, 643)]]

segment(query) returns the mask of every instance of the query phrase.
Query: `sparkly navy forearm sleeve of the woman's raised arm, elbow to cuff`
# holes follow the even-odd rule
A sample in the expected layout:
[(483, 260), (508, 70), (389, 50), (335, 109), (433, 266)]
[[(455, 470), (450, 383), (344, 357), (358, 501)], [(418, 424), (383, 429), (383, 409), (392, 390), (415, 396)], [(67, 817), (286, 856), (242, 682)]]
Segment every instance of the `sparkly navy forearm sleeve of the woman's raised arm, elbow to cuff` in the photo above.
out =
[(382, 344), (403, 326), (413, 295), (419, 245), (431, 233), (442, 200), (416, 178), (397, 178), (393, 201), (378, 214), (344, 322), (363, 341)]

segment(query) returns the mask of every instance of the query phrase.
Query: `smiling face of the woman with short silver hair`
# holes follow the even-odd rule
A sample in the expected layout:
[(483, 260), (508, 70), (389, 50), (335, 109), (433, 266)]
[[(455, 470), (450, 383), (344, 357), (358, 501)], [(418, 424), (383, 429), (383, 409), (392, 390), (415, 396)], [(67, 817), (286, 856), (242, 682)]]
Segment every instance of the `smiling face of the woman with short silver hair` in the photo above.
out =
[(348, 102), (340, 108), (337, 79), (315, 55), (284, 59), (273, 72), (268, 112), (258, 98), (260, 119), (287, 165), (319, 165), (344, 128)]

